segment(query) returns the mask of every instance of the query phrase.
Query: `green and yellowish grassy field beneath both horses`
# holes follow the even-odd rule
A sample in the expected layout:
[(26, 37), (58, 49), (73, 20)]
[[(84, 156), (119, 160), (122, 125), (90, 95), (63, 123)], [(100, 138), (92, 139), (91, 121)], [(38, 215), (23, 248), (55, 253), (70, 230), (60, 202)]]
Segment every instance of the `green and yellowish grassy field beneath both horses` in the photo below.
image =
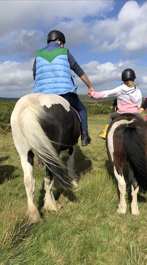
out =
[[(146, 116), (146, 113), (143, 113)], [(89, 117), (92, 144), (75, 154), (78, 189), (57, 191), (59, 212), (42, 211), (45, 167), (37, 169), (35, 202), (42, 221), (26, 218), (27, 196), (23, 171), (11, 133), (0, 135), (0, 265), (146, 265), (147, 194), (138, 194), (140, 216), (130, 214), (131, 189), (127, 183), (127, 213), (120, 215), (117, 181), (104, 141), (98, 138), (106, 117)], [(67, 162), (68, 152), (61, 154)], [(124, 167), (127, 177), (128, 167)]]

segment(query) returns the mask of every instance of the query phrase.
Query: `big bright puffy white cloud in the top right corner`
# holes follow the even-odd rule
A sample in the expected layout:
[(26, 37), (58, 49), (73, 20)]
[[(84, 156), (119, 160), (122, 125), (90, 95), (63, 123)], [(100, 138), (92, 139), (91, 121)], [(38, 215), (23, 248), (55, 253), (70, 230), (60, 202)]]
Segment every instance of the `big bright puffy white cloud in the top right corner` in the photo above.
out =
[(130, 52), (146, 47), (146, 14), (147, 2), (139, 6), (136, 1), (128, 1), (122, 7), (118, 17), (96, 21), (91, 29), (91, 38), (95, 40), (93, 52), (97, 48), (101, 52), (116, 49)]

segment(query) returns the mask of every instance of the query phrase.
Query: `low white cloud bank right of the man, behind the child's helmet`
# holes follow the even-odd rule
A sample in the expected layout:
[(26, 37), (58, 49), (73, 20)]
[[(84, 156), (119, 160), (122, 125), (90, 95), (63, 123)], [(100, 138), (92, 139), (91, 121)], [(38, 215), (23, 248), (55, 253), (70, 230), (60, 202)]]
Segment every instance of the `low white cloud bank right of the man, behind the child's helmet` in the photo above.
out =
[[(138, 61), (118, 61), (117, 63), (104, 63), (100, 64), (98, 61), (92, 61), (86, 65), (82, 65), (82, 69), (88, 76), (93, 88), (97, 91), (111, 90), (119, 86), (121, 81), (121, 73), (126, 68), (131, 68), (136, 73), (136, 83), (138, 83), (139, 88), (142, 92), (142, 96), (147, 96), (146, 82), (147, 82), (147, 67), (137, 66)], [(76, 81), (78, 83), (78, 94), (86, 94), (88, 88), (81, 81), (80, 78), (76, 76)]]

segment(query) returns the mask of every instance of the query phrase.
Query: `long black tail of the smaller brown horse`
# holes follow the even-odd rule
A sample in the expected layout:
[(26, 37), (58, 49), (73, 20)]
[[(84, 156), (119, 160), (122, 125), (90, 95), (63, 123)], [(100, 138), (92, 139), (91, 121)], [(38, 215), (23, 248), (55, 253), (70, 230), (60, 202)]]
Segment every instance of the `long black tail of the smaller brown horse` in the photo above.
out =
[(123, 150), (133, 170), (139, 189), (147, 192), (147, 156), (145, 137), (136, 127), (128, 126), (123, 132)]

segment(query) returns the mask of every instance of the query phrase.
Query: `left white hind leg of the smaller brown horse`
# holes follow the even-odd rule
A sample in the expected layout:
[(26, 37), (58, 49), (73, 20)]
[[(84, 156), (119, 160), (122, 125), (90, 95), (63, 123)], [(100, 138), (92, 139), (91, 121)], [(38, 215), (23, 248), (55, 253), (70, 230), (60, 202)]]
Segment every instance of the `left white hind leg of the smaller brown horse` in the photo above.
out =
[(114, 174), (115, 174), (116, 179), (118, 181), (118, 188), (119, 188), (119, 191), (120, 191), (120, 202), (119, 202), (119, 205), (118, 205), (117, 212), (119, 214), (125, 214), (126, 213), (126, 208), (127, 208), (126, 200), (125, 200), (126, 182), (124, 180), (123, 173), (121, 172), (121, 175), (119, 175), (115, 166), (114, 166)]

